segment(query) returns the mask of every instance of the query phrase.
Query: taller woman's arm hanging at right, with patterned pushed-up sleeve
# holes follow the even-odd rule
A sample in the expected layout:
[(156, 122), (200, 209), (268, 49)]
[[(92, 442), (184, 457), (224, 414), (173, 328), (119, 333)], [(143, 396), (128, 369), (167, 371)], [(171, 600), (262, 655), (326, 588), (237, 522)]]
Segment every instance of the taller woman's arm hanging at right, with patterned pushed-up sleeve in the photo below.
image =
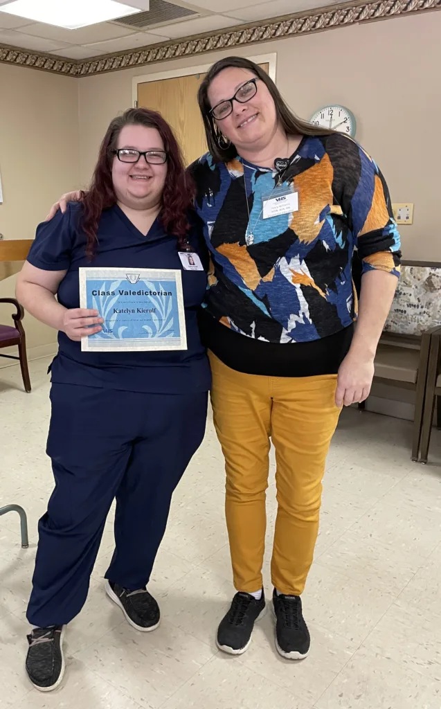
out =
[[(343, 360), (335, 403), (364, 401), (374, 378), (374, 357), (391, 308), (400, 274), (400, 235), (393, 220), (391, 198), (379, 167), (353, 140), (331, 141), (335, 174), (340, 176), (337, 201), (357, 240), (362, 285), (355, 335)], [(339, 184), (338, 179), (336, 180)]]

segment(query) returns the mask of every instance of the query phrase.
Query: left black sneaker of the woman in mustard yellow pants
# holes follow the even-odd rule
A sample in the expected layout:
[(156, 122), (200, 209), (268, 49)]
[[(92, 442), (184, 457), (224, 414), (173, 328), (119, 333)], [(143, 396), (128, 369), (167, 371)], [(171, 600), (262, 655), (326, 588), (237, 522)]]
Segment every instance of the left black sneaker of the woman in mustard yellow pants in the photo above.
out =
[(251, 642), (251, 634), (256, 620), (264, 615), (265, 595), (256, 601), (250, 593), (236, 593), (230, 610), (218, 629), (217, 645), (230, 655), (241, 655)]

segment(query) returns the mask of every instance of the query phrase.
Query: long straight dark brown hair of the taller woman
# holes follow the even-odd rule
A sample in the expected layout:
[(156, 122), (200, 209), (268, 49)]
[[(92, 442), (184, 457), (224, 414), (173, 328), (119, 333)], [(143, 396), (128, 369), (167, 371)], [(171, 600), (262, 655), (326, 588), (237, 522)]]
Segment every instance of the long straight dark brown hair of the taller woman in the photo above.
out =
[(201, 82), (201, 86), (199, 86), (198, 93), (199, 108), (201, 109), (203, 125), (205, 127), (208, 150), (211, 152), (216, 162), (228, 162), (238, 155), (238, 151), (233, 144), (225, 149), (220, 147), (218, 140), (221, 133), (214, 121), (213, 115), (210, 113), (211, 105), (210, 101), (208, 101), (208, 88), (211, 82), (223, 69), (228, 69), (228, 67), (249, 69), (250, 72), (253, 72), (255, 76), (264, 82), (274, 99), (277, 119), (286, 135), (329, 135), (333, 133), (333, 130), (326, 130), (325, 128), (320, 128), (318, 125), (313, 125), (312, 123), (308, 123), (308, 121), (297, 118), (291, 111), (291, 108), (287, 106), (284, 99), (282, 99), (276, 84), (274, 84), (273, 80), (268, 76), (267, 72), (264, 72), (255, 62), (245, 57), (225, 57), (225, 59), (219, 60), (209, 69), (203, 82)]

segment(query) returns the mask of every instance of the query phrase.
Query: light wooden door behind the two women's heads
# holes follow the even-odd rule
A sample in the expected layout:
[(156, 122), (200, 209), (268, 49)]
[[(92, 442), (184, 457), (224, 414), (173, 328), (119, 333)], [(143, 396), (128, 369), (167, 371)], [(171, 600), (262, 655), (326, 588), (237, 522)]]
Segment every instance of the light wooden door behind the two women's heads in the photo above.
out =
[[(268, 73), (269, 65), (261, 66)], [(164, 116), (179, 140), (186, 164), (207, 151), (197, 98), (203, 77), (205, 74), (190, 74), (138, 84), (138, 106), (159, 111)]]

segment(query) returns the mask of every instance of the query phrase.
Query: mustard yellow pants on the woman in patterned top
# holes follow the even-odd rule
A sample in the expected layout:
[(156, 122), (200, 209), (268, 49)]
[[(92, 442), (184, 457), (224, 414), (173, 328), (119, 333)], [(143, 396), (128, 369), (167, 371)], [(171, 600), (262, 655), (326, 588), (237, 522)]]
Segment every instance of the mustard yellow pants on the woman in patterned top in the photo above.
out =
[(235, 372), (210, 353), (211, 401), (225, 456), (225, 512), (238, 591), (262, 588), (270, 440), (276, 451), (277, 520), (272, 584), (300, 596), (313, 562), (325, 459), (337, 426), (337, 376)]

